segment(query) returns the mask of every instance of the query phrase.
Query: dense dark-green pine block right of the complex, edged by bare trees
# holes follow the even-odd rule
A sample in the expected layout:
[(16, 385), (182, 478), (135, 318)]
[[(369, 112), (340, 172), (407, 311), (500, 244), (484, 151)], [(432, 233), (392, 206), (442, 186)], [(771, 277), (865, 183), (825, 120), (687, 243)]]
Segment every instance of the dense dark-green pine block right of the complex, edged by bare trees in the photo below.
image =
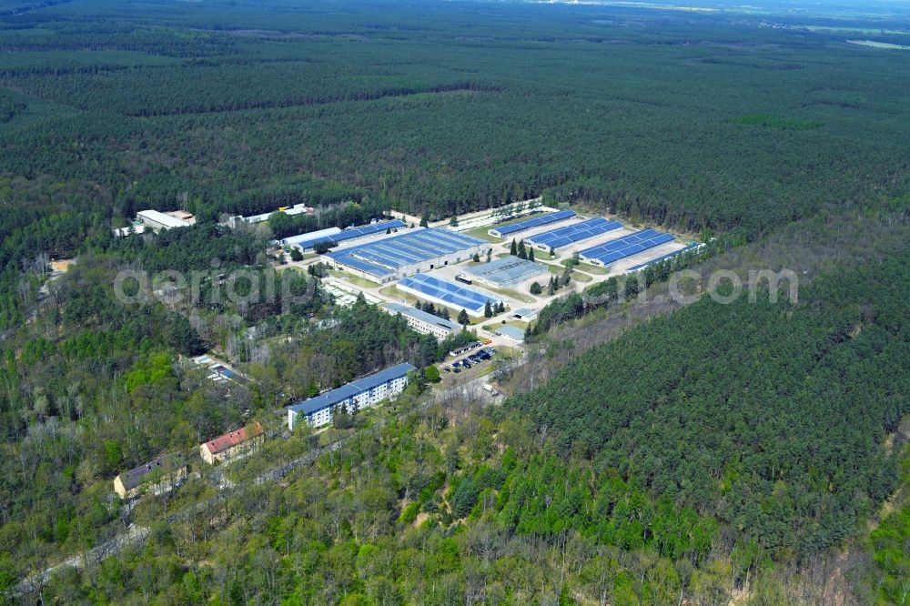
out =
[(799, 305), (703, 298), (515, 400), (563, 447), (805, 557), (895, 489), (910, 412), (905, 254), (826, 276)]

